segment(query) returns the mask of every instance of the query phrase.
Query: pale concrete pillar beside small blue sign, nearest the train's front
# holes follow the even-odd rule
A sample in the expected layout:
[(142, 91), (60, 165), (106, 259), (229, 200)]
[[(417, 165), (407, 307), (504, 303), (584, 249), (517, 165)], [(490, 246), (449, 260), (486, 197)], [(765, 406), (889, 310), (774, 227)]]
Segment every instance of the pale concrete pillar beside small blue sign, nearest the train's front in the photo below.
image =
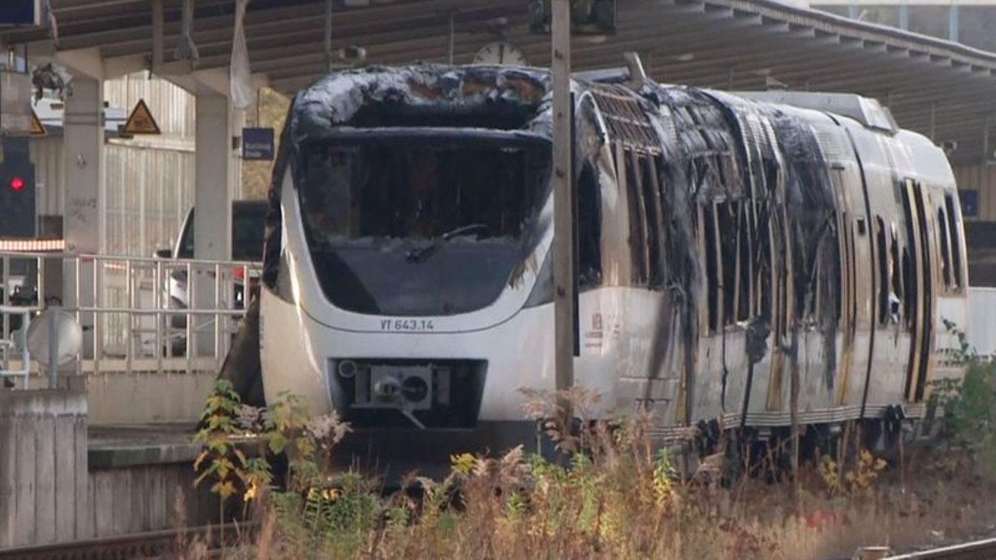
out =
[[(198, 95), (196, 109), (196, 169), (194, 178), (195, 259), (232, 258), (232, 110), (228, 99)], [(230, 271), (222, 269), (222, 291), (215, 299), (213, 269), (201, 268), (190, 301), (196, 309), (221, 307), (232, 299)], [(212, 356), (217, 325), (213, 318), (194, 320), (196, 356)]]

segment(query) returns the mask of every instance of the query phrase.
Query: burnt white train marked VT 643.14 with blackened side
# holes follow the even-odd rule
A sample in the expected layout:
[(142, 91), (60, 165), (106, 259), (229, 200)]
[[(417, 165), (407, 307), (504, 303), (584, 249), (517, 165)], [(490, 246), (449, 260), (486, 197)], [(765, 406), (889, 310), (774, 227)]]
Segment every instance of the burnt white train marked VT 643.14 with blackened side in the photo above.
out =
[[(408, 458), (534, 441), (554, 388), (550, 76), (333, 74), (291, 107), (260, 302), (289, 391)], [(880, 429), (961, 375), (962, 216), (944, 152), (871, 99), (577, 74), (576, 384), (599, 414)], [(377, 451), (379, 452), (379, 451)]]

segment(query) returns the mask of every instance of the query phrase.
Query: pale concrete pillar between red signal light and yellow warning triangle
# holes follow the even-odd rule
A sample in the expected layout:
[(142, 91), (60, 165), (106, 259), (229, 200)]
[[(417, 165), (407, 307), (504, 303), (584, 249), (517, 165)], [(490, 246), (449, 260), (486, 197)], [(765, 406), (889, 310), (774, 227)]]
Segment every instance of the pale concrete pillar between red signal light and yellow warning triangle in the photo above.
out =
[[(66, 99), (63, 148), (65, 152), (65, 207), (63, 233), (69, 252), (98, 254), (104, 244), (104, 83), (78, 76), (73, 94)], [(69, 308), (89, 307), (94, 299), (94, 265), (81, 263), (80, 299), (77, 301), (76, 269), (64, 269), (63, 302)], [(84, 356), (93, 357), (93, 314), (82, 314), (85, 328)]]

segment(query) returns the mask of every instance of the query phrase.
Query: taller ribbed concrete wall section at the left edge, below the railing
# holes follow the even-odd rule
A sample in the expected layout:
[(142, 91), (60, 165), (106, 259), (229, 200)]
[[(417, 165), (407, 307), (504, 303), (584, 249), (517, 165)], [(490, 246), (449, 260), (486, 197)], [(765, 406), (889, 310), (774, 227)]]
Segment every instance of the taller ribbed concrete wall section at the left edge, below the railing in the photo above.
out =
[(83, 391), (0, 391), (0, 547), (93, 534)]

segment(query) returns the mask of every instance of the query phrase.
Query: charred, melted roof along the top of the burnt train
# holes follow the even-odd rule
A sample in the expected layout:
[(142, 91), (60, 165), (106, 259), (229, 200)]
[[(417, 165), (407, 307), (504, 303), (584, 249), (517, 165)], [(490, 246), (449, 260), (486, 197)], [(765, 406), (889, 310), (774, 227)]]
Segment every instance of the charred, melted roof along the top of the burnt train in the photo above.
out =
[[(885, 125), (890, 123), (884, 121), (875, 121), (870, 126), (869, 115), (877, 114), (870, 113), (869, 108), (878, 106), (871, 103), (873, 100), (858, 96), (725, 94), (653, 82), (645, 82), (634, 91), (622, 84), (600, 81), (591, 73), (577, 75), (572, 87), (578, 94), (609, 91), (621, 95), (635, 102), (638, 112), (675, 116), (672, 110), (677, 107), (698, 105), (701, 108), (696, 113), (698, 117), (718, 113), (730, 117), (732, 113), (746, 111), (767, 115), (787, 125), (787, 121), (793, 122), (782, 128), (783, 133), (804, 128), (805, 119), (799, 118), (796, 108), (850, 117), (877, 134), (896, 132), (889, 131), (890, 127)], [(331, 74), (299, 93), (285, 134), (290, 133), (294, 146), (336, 130), (405, 127), (519, 131), (549, 138), (552, 134), (550, 88), (549, 71), (534, 68), (417, 65), (349, 70)], [(834, 103), (821, 107), (819, 96), (833, 98)], [(850, 115), (848, 108), (852, 107), (864, 113)], [(653, 141), (660, 141), (660, 137), (650, 136)]]

